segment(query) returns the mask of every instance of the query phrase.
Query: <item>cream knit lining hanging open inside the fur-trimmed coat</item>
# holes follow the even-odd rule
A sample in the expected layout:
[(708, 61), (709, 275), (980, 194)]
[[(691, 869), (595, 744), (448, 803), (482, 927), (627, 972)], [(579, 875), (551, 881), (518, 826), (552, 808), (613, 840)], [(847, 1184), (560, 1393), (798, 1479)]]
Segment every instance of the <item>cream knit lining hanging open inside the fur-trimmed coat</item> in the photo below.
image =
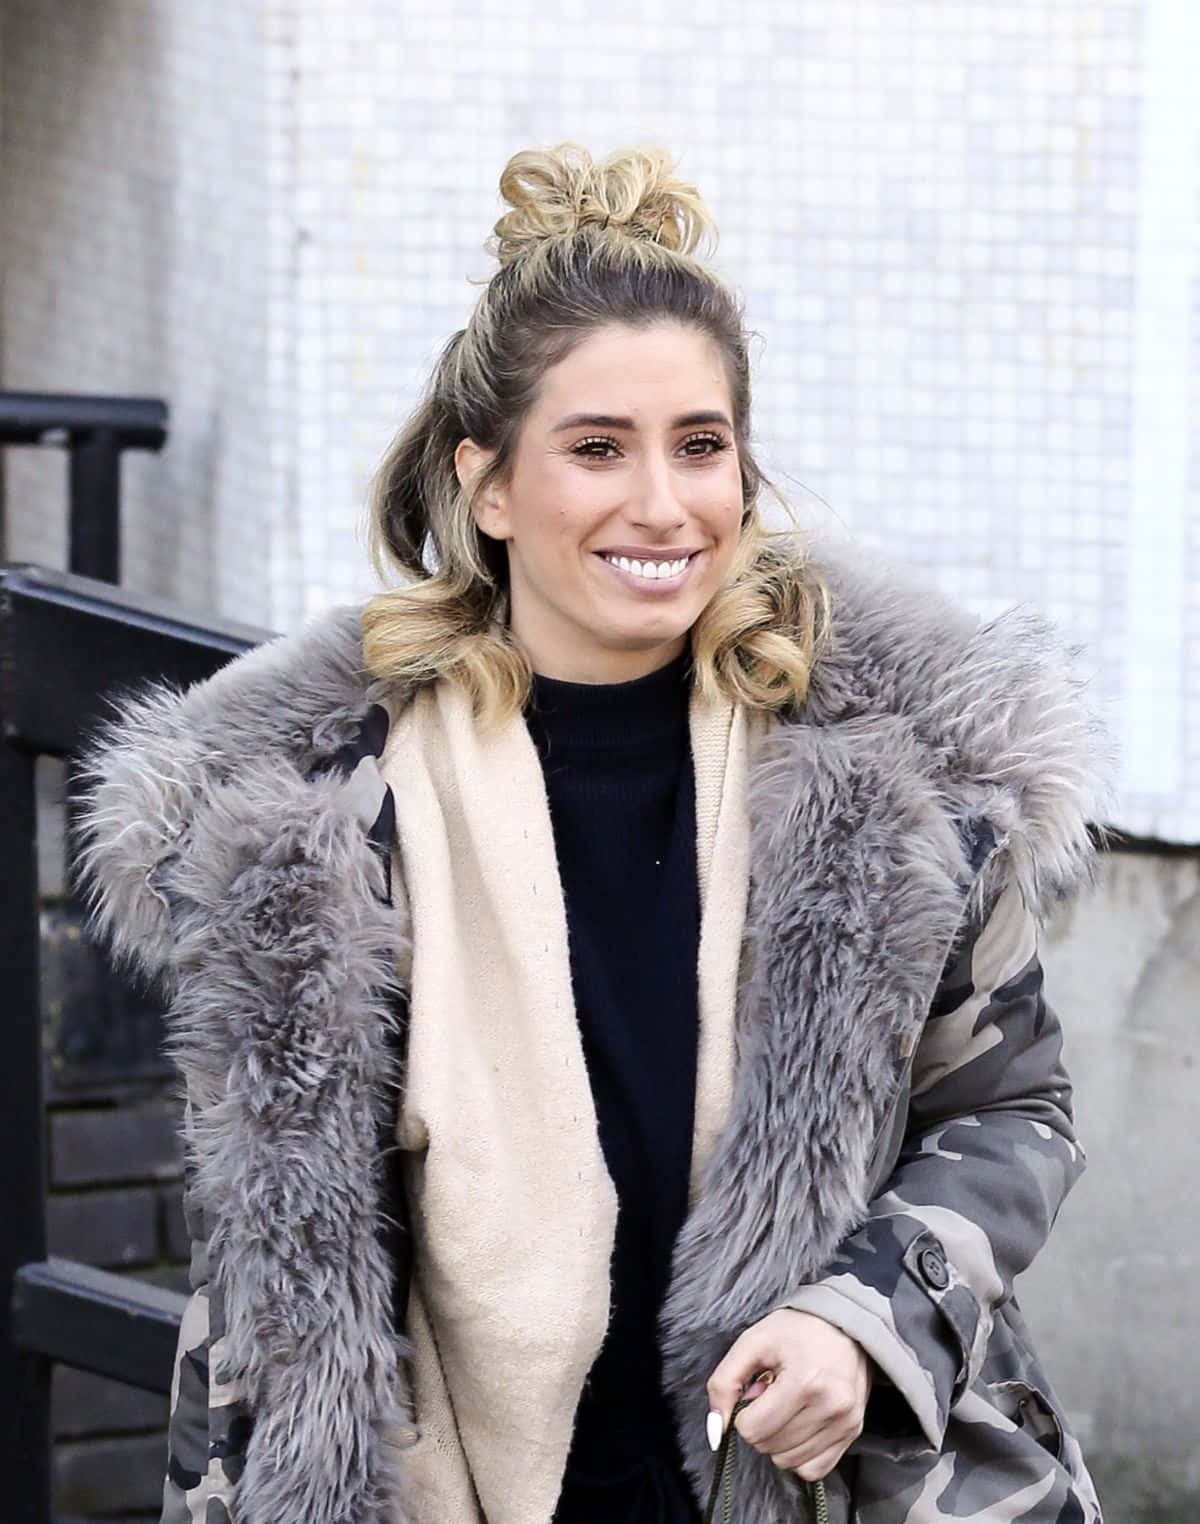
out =
[[(695, 693), (701, 931), (691, 1195), (729, 1113), (746, 914), (749, 716)], [(575, 1023), (566, 911), (534, 744), (480, 735), (450, 683), (383, 756), (412, 914), (406, 1093), (415, 1222), (409, 1332), (422, 1431), (415, 1524), (549, 1524), (604, 1340), (616, 1193)]]

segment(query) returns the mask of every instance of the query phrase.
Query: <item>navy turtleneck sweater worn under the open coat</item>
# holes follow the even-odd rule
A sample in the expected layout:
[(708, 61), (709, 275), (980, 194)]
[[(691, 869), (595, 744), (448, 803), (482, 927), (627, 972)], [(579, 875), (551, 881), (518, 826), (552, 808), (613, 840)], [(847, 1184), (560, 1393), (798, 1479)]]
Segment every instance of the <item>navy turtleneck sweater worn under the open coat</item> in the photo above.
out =
[(555, 1524), (697, 1524), (656, 1324), (688, 1209), (697, 1064), (695, 792), (685, 652), (631, 683), (535, 677), (570, 972), (618, 1193), (611, 1312)]

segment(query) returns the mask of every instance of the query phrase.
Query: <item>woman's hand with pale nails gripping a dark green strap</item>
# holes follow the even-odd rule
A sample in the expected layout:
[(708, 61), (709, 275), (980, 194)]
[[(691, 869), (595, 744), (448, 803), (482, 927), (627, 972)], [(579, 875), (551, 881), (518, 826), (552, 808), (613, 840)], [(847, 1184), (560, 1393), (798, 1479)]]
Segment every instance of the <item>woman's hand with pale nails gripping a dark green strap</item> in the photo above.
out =
[[(775, 1373), (770, 1385), (750, 1384), (759, 1372)], [(811, 1312), (781, 1308), (752, 1323), (709, 1376), (709, 1445), (717, 1449), (738, 1398), (753, 1398), (738, 1434), (776, 1466), (819, 1481), (861, 1434), (869, 1391), (860, 1344)]]

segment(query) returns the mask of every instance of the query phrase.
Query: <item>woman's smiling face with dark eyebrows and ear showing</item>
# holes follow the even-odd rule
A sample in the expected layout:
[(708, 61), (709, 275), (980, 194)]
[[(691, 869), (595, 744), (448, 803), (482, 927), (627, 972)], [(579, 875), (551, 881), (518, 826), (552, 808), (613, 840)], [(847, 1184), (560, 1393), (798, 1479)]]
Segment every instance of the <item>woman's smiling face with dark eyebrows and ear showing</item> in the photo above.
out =
[[(489, 454), (464, 440), (464, 483)], [(535, 672), (621, 683), (679, 655), (738, 544), (733, 408), (712, 340), (596, 329), (543, 376), (509, 475), (476, 500), (508, 546), (512, 636)]]

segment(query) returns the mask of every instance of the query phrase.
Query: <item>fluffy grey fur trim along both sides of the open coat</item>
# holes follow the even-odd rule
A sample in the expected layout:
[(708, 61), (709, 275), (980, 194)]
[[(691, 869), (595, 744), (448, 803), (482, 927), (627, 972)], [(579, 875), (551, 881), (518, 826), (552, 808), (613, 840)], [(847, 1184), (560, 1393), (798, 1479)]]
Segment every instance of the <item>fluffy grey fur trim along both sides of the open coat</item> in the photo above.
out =
[[(733, 1111), (662, 1317), (700, 1486), (704, 1381), (861, 1222), (903, 1055), (967, 908), (1016, 876), (1044, 911), (1087, 876), (1104, 809), (1098, 733), (1044, 626), (977, 628), (894, 572), (820, 570), (834, 640), (752, 768)], [(404, 1416), (404, 1346), (374, 1225), (404, 931), (351, 785), (308, 776), (371, 696), (340, 610), (183, 696), (125, 703), (90, 767), (82, 878), (116, 954), (172, 995), (226, 1369), (258, 1414), (239, 1524), (374, 1524), (403, 1484), (378, 1443)], [(973, 821), (996, 840), (982, 873)], [(802, 1516), (794, 1477), (758, 1455), (746, 1469), (747, 1518)]]

